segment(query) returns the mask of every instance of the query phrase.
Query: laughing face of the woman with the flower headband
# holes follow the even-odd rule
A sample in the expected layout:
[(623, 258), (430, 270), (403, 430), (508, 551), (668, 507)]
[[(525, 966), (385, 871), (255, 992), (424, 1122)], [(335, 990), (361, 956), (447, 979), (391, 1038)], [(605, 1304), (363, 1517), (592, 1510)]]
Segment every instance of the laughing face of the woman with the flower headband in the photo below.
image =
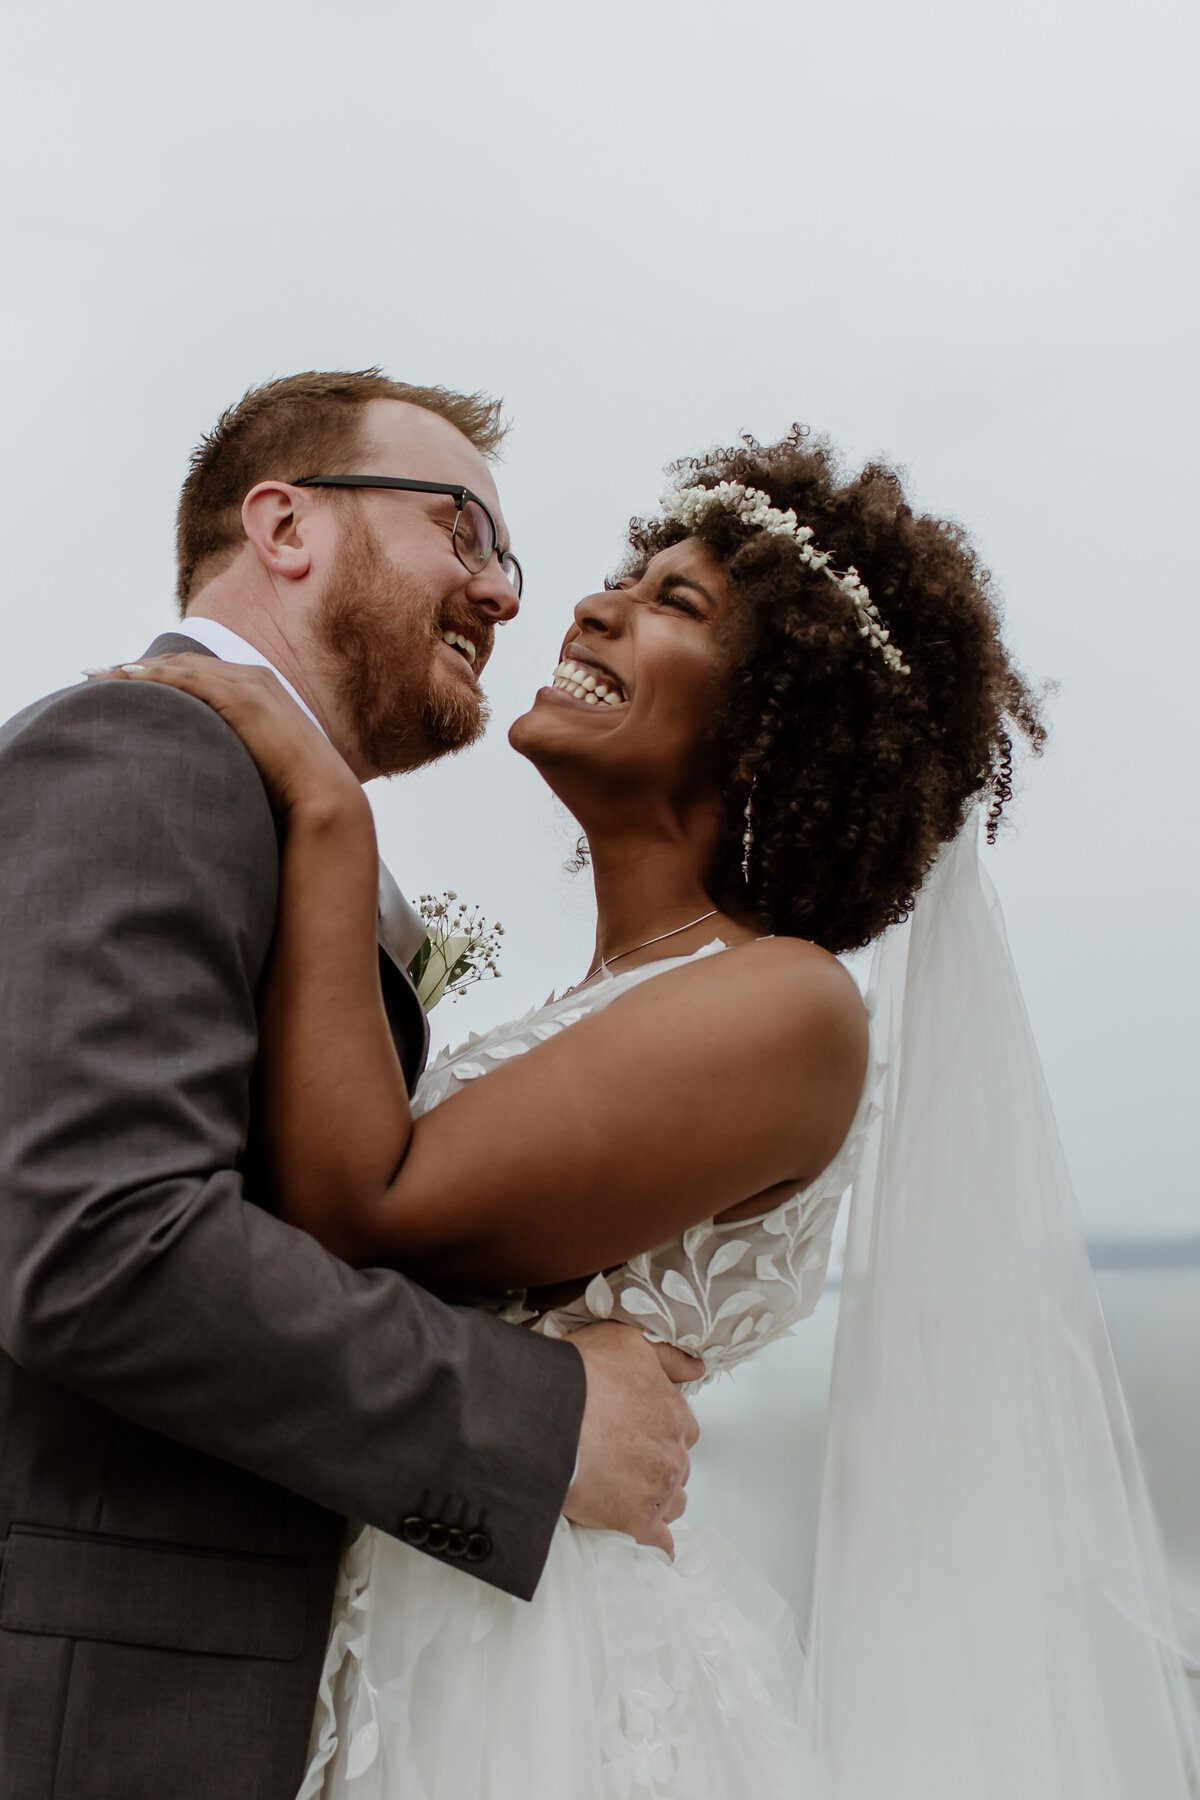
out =
[(700, 538), (576, 607), (549, 686), (509, 731), (579, 814), (601, 794), (667, 801), (712, 788), (712, 711), (720, 704), (732, 594)]

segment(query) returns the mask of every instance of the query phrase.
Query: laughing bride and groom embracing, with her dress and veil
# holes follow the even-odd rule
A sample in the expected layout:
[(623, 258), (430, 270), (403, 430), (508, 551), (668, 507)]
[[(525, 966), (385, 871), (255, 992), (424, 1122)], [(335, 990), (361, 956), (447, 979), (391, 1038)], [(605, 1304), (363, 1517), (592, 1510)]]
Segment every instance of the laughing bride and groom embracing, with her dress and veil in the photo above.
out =
[[(802, 434), (680, 464), (509, 733), (594, 961), (426, 1071), (362, 783), (484, 727), (498, 439), (378, 373), (254, 391), (184, 486), (180, 630), (0, 733), (4, 1795), (1182, 1800), (975, 859), (1042, 742), (986, 574)], [(864, 1003), (838, 954), (914, 904)], [(811, 1312), (851, 1183), (799, 1625), (671, 1532), (680, 1390)]]

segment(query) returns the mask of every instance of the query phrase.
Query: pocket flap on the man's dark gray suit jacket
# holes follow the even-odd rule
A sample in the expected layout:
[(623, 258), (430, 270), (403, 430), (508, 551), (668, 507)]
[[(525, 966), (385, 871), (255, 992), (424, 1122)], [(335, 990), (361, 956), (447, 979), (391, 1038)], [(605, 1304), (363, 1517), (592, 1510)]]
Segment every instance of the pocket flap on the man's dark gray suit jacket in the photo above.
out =
[(290, 1661), (304, 1649), (308, 1577), (290, 1557), (234, 1555), (14, 1525), (0, 1631)]

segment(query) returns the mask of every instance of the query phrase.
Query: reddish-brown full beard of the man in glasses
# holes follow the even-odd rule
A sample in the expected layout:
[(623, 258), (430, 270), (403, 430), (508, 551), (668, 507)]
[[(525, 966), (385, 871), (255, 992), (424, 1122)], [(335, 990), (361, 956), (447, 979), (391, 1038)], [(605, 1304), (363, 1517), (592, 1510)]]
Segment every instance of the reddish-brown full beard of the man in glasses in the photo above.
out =
[[(441, 668), (441, 634), (461, 623), (452, 610), (399, 574), (367, 526), (347, 529), (313, 630), (342, 716), (381, 776), (464, 751), (488, 727), (488, 702), (473, 680)], [(479, 617), (470, 623), (479, 637)]]

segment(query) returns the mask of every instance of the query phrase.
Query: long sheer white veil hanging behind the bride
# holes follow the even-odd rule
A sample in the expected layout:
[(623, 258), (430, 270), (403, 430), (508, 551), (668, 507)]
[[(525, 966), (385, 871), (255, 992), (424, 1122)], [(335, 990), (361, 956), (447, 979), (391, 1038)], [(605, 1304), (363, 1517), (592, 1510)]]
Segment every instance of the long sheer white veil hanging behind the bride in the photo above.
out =
[(806, 1721), (833, 1800), (1187, 1800), (1187, 1658), (977, 842), (873, 968)]

